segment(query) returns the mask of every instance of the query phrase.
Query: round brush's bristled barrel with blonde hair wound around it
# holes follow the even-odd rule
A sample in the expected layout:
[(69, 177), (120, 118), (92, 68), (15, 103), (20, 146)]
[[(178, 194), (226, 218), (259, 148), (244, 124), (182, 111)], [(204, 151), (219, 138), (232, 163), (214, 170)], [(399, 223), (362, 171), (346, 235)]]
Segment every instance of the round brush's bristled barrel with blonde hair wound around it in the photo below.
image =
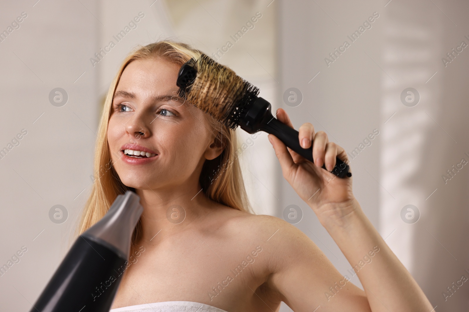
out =
[(259, 89), (205, 54), (194, 67), (197, 77), (186, 90), (186, 100), (230, 129), (236, 129)]

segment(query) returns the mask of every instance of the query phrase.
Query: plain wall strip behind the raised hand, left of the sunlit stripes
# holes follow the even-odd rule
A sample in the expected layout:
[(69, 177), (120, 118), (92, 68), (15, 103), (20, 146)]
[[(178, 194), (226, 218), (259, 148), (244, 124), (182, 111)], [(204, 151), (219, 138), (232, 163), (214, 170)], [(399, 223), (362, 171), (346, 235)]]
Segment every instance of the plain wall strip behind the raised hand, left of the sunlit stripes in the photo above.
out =
[[(367, 217), (379, 229), (380, 186), (377, 180), (383, 122), (379, 104), (381, 69), (375, 61), (379, 64), (381, 60), (380, 38), (385, 27), (382, 6), (372, 1), (341, 2), (339, 9), (338, 3), (332, 2), (282, 1), (280, 12), (279, 96), (291, 87), (303, 94), (299, 106), (283, 106), (294, 126), (312, 123), (315, 131), (325, 131), (330, 141), (342, 146), (350, 155), (375, 129), (379, 133), (369, 140), (371, 145), (363, 144), (363, 150), (350, 161), (354, 194)], [(378, 12), (379, 17), (370, 23), (371, 28), (355, 42), (348, 39), (374, 12)], [(340, 48), (345, 41), (350, 46)], [(339, 54), (335, 49), (345, 51)], [(329, 55), (334, 52), (335, 60)], [(352, 266), (311, 208), (287, 181), (279, 183), (281, 208), (297, 205), (303, 211), (303, 220), (296, 226), (321, 248), (342, 275), (361, 287), (358, 277), (348, 272)], [(315, 191), (311, 190), (311, 195)]]

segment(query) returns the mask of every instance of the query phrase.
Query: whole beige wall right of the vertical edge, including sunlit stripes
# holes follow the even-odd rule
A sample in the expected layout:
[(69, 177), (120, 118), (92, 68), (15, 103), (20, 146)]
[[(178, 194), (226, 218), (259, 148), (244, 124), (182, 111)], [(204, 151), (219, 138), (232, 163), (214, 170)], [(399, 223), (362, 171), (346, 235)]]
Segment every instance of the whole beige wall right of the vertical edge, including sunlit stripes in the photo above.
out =
[[(303, 93), (300, 106), (285, 106), (294, 125), (310, 121), (349, 153), (373, 129), (379, 130), (372, 145), (351, 161), (354, 194), (437, 306), (435, 311), (467, 311), (469, 288), (456, 286), (454, 294), (447, 289), (453, 283), (461, 285), (461, 276), (469, 277), (469, 170), (459, 165), (462, 169), (454, 170), (454, 177), (447, 174), (462, 158), (469, 161), (467, 48), (454, 54), (446, 66), (442, 58), (462, 41), (469, 44), (468, 4), (399, 0), (280, 4), (279, 98), (289, 87)], [(371, 29), (351, 43), (347, 36), (373, 12), (379, 17)], [(329, 53), (345, 40), (350, 46), (331, 59)], [(401, 93), (409, 87), (420, 94), (415, 106), (401, 101)], [(287, 182), (280, 183), (282, 207), (298, 205), (306, 219), (297, 226), (341, 274), (349, 274), (351, 265), (310, 208)], [(406, 213), (412, 218), (412, 210), (401, 217), (409, 204), (420, 213), (415, 223), (404, 221)], [(352, 282), (361, 287), (356, 276)], [(283, 306), (280, 311), (290, 310)]]

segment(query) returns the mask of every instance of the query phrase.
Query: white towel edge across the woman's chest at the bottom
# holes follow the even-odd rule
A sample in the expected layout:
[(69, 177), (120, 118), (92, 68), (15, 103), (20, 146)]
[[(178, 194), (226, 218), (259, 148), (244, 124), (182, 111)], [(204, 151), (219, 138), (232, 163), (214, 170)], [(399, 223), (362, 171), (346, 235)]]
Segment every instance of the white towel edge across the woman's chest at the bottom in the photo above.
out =
[(227, 312), (212, 305), (194, 301), (164, 301), (143, 305), (130, 305), (109, 312)]

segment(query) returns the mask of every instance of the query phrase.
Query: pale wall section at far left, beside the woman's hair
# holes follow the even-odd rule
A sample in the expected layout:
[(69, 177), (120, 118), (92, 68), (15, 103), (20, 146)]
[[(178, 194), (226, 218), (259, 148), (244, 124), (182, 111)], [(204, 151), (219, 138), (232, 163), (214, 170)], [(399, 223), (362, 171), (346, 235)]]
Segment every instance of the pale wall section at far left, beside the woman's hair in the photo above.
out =
[[(0, 160), (0, 265), (21, 254), (0, 277), (0, 310), (12, 312), (30, 310), (66, 252), (92, 182), (98, 120), (98, 72), (89, 60), (101, 27), (96, 2), (2, 3), (1, 31), (22, 12), (20, 28), (0, 43), (1, 148), (27, 131)], [(55, 93), (51, 102), (57, 87), (62, 102)], [(52, 221), (55, 205), (63, 206), (61, 224)]]

